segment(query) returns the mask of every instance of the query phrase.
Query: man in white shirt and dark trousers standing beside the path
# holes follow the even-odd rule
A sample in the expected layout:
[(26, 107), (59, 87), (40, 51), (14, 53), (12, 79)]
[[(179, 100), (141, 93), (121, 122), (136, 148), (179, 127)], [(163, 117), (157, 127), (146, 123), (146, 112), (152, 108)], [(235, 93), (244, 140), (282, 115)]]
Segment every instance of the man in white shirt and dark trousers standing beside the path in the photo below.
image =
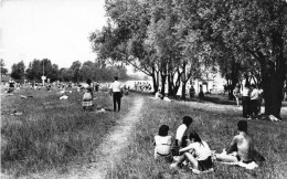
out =
[(115, 76), (114, 80), (115, 81), (110, 84), (109, 90), (113, 93), (114, 112), (117, 110), (117, 104), (118, 104), (118, 112), (119, 112), (120, 110), (120, 99), (123, 96), (121, 85), (118, 82), (118, 76)]

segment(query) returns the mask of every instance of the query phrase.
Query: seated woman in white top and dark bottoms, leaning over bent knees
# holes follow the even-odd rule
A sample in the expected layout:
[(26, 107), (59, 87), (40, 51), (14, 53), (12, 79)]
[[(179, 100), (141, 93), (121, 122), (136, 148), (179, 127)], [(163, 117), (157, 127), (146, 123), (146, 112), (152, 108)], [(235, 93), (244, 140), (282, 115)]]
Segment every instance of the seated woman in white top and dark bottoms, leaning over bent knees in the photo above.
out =
[(170, 167), (177, 169), (184, 160), (187, 160), (191, 165), (192, 172), (194, 173), (212, 171), (213, 162), (211, 159), (211, 149), (209, 145), (200, 138), (196, 131), (190, 133), (187, 144), (187, 147), (179, 150), (183, 155), (180, 156), (177, 162), (170, 165)]

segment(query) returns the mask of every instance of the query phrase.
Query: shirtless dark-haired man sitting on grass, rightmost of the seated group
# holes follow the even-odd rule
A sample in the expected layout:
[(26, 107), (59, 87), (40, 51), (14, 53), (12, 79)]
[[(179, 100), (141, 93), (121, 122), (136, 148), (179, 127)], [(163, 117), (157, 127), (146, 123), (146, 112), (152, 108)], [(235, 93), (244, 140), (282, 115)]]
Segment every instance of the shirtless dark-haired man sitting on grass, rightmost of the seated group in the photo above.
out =
[(224, 149), (222, 154), (215, 155), (216, 160), (233, 164), (242, 162), (246, 165), (254, 161), (255, 150), (253, 139), (247, 134), (247, 122), (240, 120), (237, 127), (240, 134), (233, 138), (227, 151)]

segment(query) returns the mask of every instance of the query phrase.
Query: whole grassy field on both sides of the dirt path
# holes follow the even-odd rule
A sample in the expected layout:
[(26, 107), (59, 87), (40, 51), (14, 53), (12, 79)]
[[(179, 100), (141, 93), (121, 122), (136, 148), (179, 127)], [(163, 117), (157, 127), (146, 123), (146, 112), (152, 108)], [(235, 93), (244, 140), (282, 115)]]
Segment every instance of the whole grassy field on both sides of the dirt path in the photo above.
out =
[[(20, 95), (31, 95), (26, 99)], [(119, 113), (83, 113), (82, 94), (68, 93), (67, 101), (56, 92), (20, 91), (13, 96), (1, 95), (1, 171), (13, 176), (44, 172), (51, 169), (59, 173), (68, 172), (67, 166), (84, 165), (95, 160), (97, 146), (110, 127), (117, 125), (119, 115), (131, 108), (135, 96), (125, 96)], [(111, 108), (111, 98), (97, 93), (97, 107)], [(199, 102), (161, 102), (144, 95), (140, 122), (130, 136), (130, 144), (123, 160), (108, 169), (107, 178), (287, 178), (287, 113), (283, 123), (248, 120), (255, 148), (267, 159), (258, 169), (215, 164), (215, 171), (192, 175), (191, 171), (171, 171), (169, 164), (153, 160), (153, 136), (162, 124), (170, 127), (174, 136), (182, 117), (194, 118), (192, 129), (196, 130), (211, 149), (221, 152), (237, 133), (236, 123), (242, 119), (241, 108)], [(13, 110), (24, 112), (11, 116)], [(286, 110), (285, 110), (286, 112)]]

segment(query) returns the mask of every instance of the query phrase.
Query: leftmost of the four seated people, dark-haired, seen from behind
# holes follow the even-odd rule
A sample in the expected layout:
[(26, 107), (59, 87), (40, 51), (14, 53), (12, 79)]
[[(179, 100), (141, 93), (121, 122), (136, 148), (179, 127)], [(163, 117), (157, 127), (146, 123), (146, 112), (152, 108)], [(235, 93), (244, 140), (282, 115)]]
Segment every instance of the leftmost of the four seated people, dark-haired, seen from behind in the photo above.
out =
[(155, 136), (155, 159), (163, 157), (168, 161), (172, 161), (171, 157), (171, 136), (169, 134), (169, 126), (161, 125), (159, 134)]

